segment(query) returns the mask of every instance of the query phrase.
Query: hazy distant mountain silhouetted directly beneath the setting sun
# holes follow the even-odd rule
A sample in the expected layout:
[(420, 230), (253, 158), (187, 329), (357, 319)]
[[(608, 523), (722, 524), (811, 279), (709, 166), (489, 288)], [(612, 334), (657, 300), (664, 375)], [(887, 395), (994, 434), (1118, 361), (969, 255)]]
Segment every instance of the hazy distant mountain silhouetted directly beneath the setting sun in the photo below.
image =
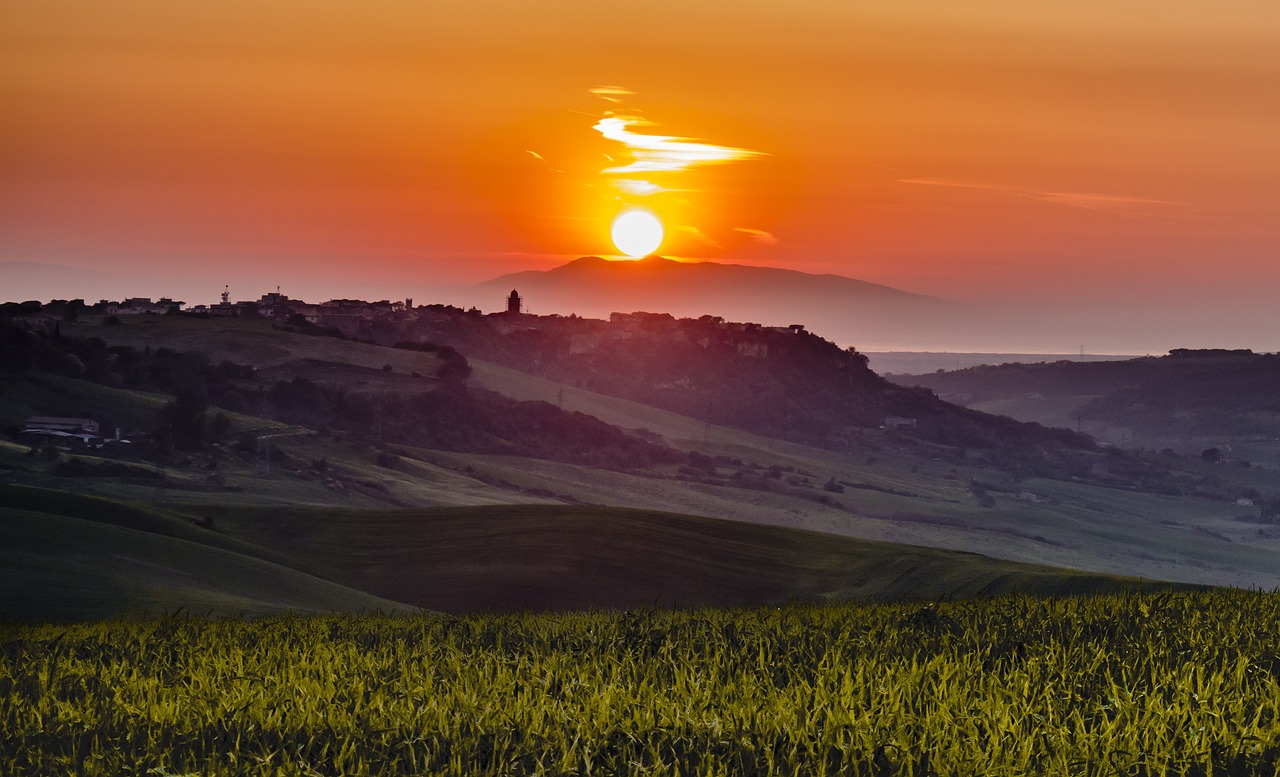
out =
[(611, 312), (723, 316), (765, 325), (804, 324), (858, 348), (937, 342), (965, 326), (973, 311), (887, 285), (780, 268), (681, 262), (660, 256), (609, 261), (585, 256), (552, 270), (513, 273), (474, 287), (498, 301), (520, 292), (535, 314), (608, 317)]

